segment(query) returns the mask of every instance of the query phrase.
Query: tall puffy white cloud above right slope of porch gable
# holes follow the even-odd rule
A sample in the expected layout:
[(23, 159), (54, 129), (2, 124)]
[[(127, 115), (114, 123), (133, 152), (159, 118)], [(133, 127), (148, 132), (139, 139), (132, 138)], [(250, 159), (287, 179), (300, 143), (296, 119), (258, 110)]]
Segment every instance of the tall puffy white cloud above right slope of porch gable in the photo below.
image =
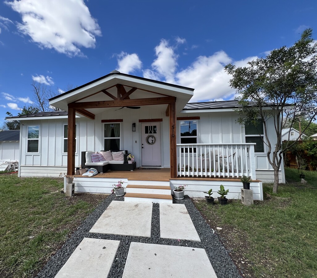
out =
[(160, 44), (155, 47), (155, 54), (157, 58), (152, 63), (152, 69), (143, 71), (143, 76), (145, 78), (164, 77), (164, 81), (175, 83), (174, 77), (178, 55), (175, 54), (174, 48), (169, 46), (166, 40), (162, 39)]

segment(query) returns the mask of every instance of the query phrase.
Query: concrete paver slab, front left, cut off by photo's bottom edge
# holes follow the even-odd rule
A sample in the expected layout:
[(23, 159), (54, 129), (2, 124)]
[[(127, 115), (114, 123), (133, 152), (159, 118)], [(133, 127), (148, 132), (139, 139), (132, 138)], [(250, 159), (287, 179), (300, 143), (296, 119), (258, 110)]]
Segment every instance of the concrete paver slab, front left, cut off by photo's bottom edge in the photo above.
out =
[(55, 278), (106, 278), (120, 241), (85, 237)]

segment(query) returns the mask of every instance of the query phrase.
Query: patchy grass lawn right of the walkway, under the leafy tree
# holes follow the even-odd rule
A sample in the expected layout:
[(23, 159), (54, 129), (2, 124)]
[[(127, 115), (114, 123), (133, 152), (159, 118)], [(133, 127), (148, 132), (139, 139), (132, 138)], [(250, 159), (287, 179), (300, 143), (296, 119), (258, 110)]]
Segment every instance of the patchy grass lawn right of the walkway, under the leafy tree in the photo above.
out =
[[(245, 277), (317, 277), (317, 172), (305, 171), (306, 186), (315, 189), (296, 187), (302, 186), (297, 170), (285, 174), (288, 184), (276, 196), (290, 200), (273, 197), (250, 207), (194, 200)], [(272, 194), (272, 184), (263, 191)]]

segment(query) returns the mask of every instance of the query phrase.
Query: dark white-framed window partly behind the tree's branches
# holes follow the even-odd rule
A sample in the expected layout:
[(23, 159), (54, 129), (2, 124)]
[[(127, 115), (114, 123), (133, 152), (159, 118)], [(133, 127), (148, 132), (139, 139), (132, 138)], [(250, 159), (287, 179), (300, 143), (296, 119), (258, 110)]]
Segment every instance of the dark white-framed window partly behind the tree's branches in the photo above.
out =
[(249, 123), (244, 126), (245, 142), (256, 143), (254, 152), (264, 152), (264, 128), (263, 122), (260, 119), (256, 120), (255, 124)]

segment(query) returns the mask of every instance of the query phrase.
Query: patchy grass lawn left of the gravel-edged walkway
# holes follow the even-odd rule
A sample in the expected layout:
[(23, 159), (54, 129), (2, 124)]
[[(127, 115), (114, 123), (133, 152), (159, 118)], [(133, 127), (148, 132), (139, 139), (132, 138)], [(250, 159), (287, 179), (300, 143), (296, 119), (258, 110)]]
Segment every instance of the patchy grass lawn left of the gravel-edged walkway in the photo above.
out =
[(0, 175), (0, 277), (32, 277), (104, 195), (65, 197), (57, 178)]

